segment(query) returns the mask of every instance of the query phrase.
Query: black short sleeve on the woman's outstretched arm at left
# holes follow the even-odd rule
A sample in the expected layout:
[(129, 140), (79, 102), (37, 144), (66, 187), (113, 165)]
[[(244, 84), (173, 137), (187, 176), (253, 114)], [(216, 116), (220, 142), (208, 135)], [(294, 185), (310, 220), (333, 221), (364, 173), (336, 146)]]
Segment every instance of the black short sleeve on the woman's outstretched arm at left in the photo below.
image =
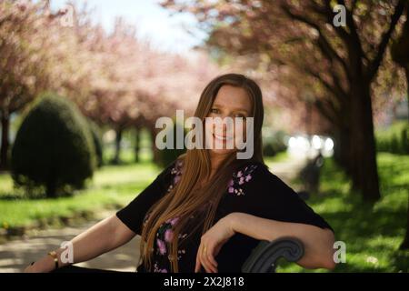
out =
[(141, 234), (145, 215), (151, 206), (165, 196), (168, 186), (171, 185), (172, 176), (174, 176), (174, 168), (175, 162), (156, 176), (154, 182), (147, 186), (133, 201), (116, 212), (116, 216), (135, 234)]

